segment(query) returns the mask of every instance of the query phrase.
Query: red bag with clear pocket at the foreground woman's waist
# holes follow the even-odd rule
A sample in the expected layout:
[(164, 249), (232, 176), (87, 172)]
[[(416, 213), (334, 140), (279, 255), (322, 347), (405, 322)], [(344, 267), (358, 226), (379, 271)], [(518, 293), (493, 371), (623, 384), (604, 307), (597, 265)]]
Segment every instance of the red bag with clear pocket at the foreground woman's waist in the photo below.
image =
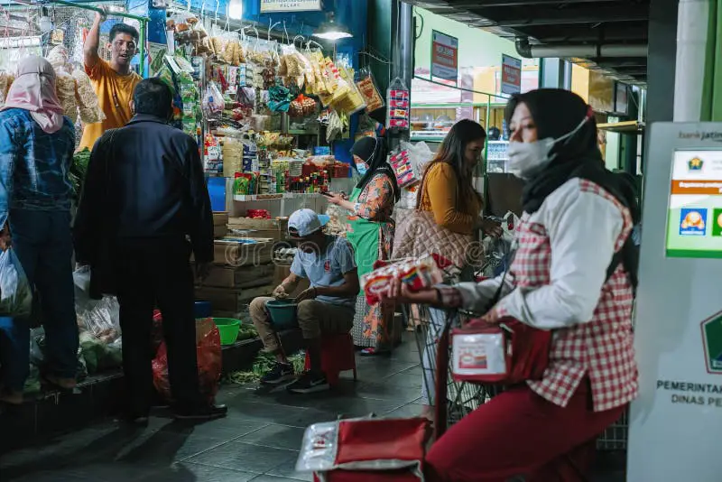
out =
[(551, 331), (507, 318), (498, 325), (471, 320), (451, 330), (455, 382), (516, 385), (541, 380), (549, 365)]

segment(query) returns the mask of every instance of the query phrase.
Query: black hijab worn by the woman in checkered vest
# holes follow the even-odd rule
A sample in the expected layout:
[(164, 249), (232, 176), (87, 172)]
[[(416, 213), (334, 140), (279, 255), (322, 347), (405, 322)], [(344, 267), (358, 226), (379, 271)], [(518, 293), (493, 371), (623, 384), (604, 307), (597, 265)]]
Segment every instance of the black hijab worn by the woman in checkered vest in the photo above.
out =
[[(585, 118), (588, 119), (575, 134), (554, 144), (550, 164), (526, 181), (522, 192), (523, 210), (530, 214), (536, 212), (542, 207), (544, 199), (562, 184), (580, 178), (594, 182), (614, 196), (629, 209), (636, 225), (640, 220), (640, 212), (634, 186), (606, 169), (597, 145), (597, 122), (584, 99), (559, 88), (541, 88), (514, 96), (506, 106), (507, 125), (510, 125), (514, 109), (520, 103), (529, 108), (540, 140), (559, 139), (577, 129)], [(613, 262), (610, 269), (616, 268), (620, 261), (623, 262), (632, 277), (632, 283), (636, 285), (639, 254), (634, 252), (633, 245), (630, 236), (620, 252), (621, 260)]]

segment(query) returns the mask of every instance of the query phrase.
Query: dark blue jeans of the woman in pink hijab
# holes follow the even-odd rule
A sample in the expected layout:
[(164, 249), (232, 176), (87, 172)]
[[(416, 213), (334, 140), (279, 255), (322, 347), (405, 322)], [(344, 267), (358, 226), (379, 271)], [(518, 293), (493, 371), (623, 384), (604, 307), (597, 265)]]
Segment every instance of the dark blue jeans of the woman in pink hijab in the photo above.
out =
[[(45, 329), (46, 373), (73, 378), (78, 369), (78, 322), (73, 286), (73, 243), (69, 211), (11, 209), (10, 230), (13, 249), (23, 265), (28, 281), (40, 298)], [(28, 327), (17, 320), (22, 330), (23, 351), (13, 360), (13, 372), (27, 376), (30, 357)], [(19, 346), (19, 343), (17, 344)], [(15, 377), (19, 378), (19, 377)], [(15, 382), (16, 384), (17, 382)], [(23, 385), (20, 385), (22, 388)]]

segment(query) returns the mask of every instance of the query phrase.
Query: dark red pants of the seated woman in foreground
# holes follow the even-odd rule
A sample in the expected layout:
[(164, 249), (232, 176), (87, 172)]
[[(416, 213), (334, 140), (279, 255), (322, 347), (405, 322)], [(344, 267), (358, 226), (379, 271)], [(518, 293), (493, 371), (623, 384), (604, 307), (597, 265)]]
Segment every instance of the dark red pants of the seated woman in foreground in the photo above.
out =
[(593, 412), (588, 380), (566, 407), (526, 385), (510, 389), (451, 427), (426, 457), (434, 482), (583, 480), (597, 436), (625, 407)]

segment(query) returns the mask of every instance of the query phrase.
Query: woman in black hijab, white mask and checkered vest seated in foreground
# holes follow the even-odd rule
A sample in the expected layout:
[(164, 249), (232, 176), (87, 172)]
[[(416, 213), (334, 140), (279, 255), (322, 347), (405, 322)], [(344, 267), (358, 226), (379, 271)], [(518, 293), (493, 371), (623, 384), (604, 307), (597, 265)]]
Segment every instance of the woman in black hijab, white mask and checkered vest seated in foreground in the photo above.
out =
[(507, 389), (431, 448), (430, 480), (582, 480), (596, 438), (637, 394), (634, 192), (606, 171), (591, 108), (541, 89), (507, 107), (510, 169), (526, 181), (508, 275), (389, 297), (551, 330), (541, 380)]

